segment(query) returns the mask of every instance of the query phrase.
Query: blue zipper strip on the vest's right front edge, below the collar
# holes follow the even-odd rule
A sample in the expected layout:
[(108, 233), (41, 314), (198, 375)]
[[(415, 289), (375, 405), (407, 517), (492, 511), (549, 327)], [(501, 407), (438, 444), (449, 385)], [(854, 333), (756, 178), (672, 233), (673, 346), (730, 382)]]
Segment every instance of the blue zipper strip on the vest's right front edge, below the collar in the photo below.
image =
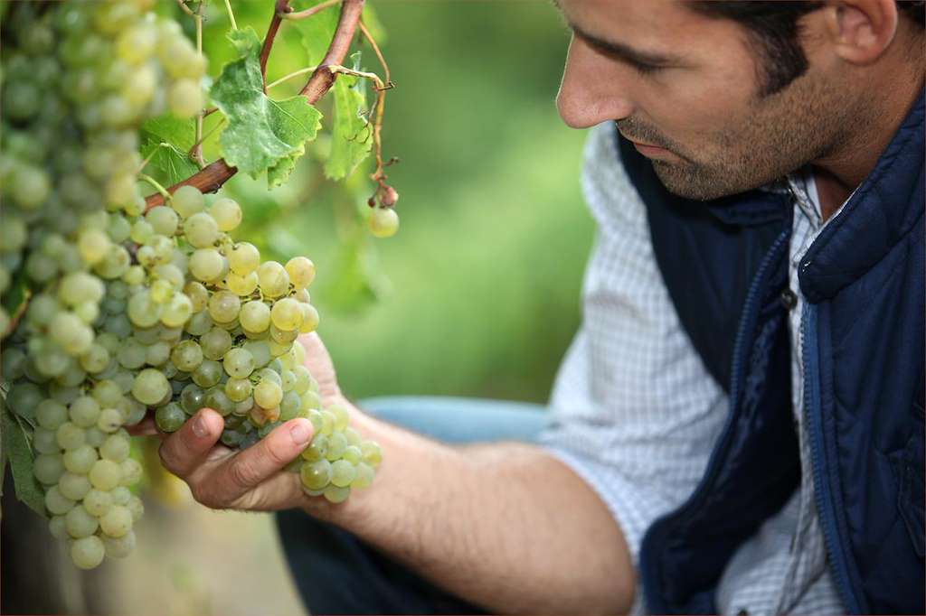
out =
[(814, 499), (823, 532), (823, 544), (830, 557), (836, 587), (843, 598), (844, 607), (852, 614), (863, 612), (849, 579), (848, 565), (839, 541), (836, 514), (833, 509), (832, 490), (823, 476), (823, 416), (820, 408), (820, 365), (818, 363), (817, 306), (806, 302), (801, 314), (801, 362), (804, 366), (804, 413), (810, 437), (810, 456), (813, 467)]

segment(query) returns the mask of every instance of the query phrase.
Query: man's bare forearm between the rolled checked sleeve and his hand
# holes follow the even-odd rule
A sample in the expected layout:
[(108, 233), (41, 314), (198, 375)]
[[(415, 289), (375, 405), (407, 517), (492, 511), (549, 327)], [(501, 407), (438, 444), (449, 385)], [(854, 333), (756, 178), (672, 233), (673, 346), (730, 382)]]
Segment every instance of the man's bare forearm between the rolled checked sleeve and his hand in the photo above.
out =
[(357, 413), (380, 442), (372, 487), (313, 515), (462, 598), (499, 612), (619, 612), (634, 575), (594, 492), (530, 445), (449, 447)]

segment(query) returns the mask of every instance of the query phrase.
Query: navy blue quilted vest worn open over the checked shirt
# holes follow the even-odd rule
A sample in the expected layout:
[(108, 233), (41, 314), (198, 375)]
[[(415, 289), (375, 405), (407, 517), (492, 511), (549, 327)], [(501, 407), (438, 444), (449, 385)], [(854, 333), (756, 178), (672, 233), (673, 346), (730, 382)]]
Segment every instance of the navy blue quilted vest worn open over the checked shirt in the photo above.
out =
[[(926, 612), (923, 107), (920, 94), (799, 272), (816, 504), (850, 613)], [(644, 536), (644, 599), (656, 613), (716, 612), (733, 552), (800, 481), (786, 312), (794, 205), (768, 191), (682, 199), (615, 139), (682, 326), (731, 400), (694, 494)]]

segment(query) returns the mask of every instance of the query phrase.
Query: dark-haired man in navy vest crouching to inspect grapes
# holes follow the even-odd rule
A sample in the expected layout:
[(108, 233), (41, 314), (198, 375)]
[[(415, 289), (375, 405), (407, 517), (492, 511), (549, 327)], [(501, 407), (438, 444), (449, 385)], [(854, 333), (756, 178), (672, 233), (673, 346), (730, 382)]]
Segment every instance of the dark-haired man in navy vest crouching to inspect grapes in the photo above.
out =
[(921, 613), (921, 3), (557, 4), (599, 237), (536, 443), (351, 407), (384, 462), (331, 505), (280, 472), (307, 421), (232, 456), (203, 410), (165, 464), (307, 512), (281, 524), (317, 612)]

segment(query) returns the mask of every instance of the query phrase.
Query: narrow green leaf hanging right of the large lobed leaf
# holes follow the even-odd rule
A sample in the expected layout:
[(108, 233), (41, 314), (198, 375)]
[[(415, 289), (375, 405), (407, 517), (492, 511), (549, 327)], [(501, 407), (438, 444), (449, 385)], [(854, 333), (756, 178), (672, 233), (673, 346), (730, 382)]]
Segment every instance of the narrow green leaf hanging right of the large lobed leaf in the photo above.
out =
[[(352, 55), (351, 60), (352, 68), (359, 70), (360, 53)], [(342, 179), (369, 156), (373, 133), (364, 116), (367, 111), (366, 80), (340, 75), (333, 90), (332, 154), (325, 162), (325, 175), (330, 179)]]

